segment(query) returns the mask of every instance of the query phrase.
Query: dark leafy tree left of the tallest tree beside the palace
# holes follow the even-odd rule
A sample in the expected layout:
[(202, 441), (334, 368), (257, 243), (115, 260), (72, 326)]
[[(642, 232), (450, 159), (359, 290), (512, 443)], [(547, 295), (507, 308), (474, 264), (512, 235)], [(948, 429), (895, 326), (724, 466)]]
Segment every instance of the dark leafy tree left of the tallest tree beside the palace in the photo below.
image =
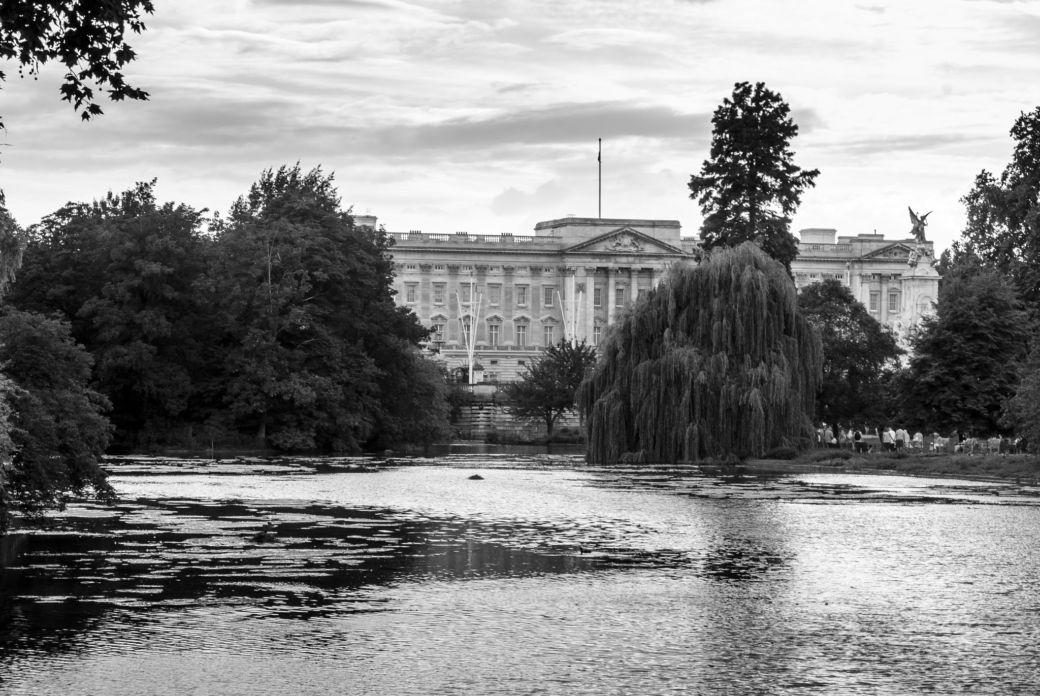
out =
[(155, 201), (155, 181), (93, 204), (68, 204), (29, 230), (9, 302), (61, 312), (95, 358), (124, 444), (162, 441), (205, 411), (212, 321), (199, 284), (212, 241), (202, 213)]

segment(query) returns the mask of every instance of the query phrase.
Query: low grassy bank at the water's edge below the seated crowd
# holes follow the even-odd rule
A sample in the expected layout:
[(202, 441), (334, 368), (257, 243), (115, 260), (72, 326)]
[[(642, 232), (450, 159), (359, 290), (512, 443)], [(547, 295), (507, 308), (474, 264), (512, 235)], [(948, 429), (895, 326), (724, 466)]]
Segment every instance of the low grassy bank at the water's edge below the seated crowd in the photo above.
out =
[[(779, 462), (777, 462), (779, 463)], [(970, 479), (1006, 479), (1034, 483), (1040, 478), (1040, 459), (1033, 455), (895, 455), (813, 449), (787, 463), (831, 467), (836, 471), (870, 469), (909, 475), (948, 475)]]

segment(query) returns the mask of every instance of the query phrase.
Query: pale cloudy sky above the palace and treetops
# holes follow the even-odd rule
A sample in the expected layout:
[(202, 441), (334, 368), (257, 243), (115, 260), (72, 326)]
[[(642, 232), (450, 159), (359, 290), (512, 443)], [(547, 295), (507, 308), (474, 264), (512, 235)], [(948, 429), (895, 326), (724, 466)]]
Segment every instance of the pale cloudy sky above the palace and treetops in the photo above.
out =
[(226, 211), (268, 166), (334, 173), (393, 232), (529, 234), (539, 221), (701, 224), (686, 184), (738, 81), (790, 104), (818, 169), (792, 230), (958, 238), (959, 202), (1040, 105), (1040, 2), (158, 0), (132, 36), (148, 102), (81, 122), (61, 71), (7, 81), (0, 188), (23, 226), (158, 180)]

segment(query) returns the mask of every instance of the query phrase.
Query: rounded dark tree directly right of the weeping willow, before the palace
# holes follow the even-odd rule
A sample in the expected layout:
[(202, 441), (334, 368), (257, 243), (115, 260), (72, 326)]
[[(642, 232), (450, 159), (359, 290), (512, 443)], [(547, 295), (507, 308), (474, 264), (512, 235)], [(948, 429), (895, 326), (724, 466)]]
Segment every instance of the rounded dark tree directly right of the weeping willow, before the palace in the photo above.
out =
[(798, 305), (824, 342), (816, 417), (831, 424), (891, 417), (890, 386), (904, 353), (891, 329), (833, 279), (802, 288)]

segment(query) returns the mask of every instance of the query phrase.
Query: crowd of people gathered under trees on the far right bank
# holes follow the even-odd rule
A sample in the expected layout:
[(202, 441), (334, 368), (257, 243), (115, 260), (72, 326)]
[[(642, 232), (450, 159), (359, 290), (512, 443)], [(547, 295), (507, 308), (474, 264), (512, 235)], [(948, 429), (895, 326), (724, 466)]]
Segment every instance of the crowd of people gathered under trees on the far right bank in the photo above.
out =
[(920, 431), (910, 434), (902, 428), (892, 429), (890, 426), (875, 428), (874, 432), (866, 426), (858, 428), (849, 426), (848, 429), (841, 423), (831, 428), (827, 423), (822, 423), (816, 429), (816, 446), (832, 447), (838, 449), (852, 449), (856, 453), (867, 452), (892, 452), (892, 453), (964, 453), (964, 454), (1021, 454), (1021, 438), (1011, 440), (1009, 438), (973, 438), (968, 433), (954, 431), (948, 437), (943, 437), (939, 433), (924, 435)]

